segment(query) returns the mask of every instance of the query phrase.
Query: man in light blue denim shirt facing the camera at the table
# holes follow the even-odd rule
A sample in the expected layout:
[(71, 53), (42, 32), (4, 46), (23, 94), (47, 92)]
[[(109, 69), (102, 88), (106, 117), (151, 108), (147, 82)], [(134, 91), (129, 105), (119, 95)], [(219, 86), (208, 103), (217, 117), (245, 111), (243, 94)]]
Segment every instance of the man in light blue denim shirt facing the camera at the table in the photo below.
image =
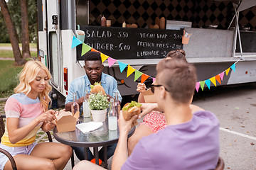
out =
[[(90, 91), (90, 85), (95, 84), (95, 82), (99, 82), (103, 89), (105, 90), (108, 98), (113, 98), (114, 93), (118, 93), (119, 102), (121, 103), (122, 97), (117, 89), (117, 81), (114, 77), (104, 74), (102, 64), (102, 60), (100, 57), (100, 52), (87, 52), (84, 55), (85, 57), (85, 76), (78, 77), (73, 80), (70, 84), (70, 88), (68, 89), (68, 96), (65, 100), (65, 111), (71, 111), (71, 106), (73, 104), (73, 93), (77, 95), (77, 103), (80, 107), (80, 113), (82, 112), (82, 101), (84, 100), (84, 92)], [(88, 97), (87, 94), (86, 97)], [(114, 154), (114, 149), (117, 147), (117, 144), (107, 146), (107, 159), (109, 159)], [(82, 147), (73, 147), (75, 150), (75, 154), (78, 159), (85, 159), (85, 150)], [(100, 159), (104, 159), (104, 148), (100, 149), (99, 152)], [(93, 159), (92, 152), (88, 149), (88, 159)]]

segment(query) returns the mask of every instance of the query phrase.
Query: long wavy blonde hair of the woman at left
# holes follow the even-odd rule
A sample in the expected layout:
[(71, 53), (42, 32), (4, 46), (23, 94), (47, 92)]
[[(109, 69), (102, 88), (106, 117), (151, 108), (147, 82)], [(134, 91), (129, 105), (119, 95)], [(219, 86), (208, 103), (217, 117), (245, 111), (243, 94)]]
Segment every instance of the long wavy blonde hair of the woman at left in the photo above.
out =
[[(43, 63), (35, 60), (28, 61), (19, 74), (19, 84), (14, 89), (14, 92), (16, 94), (24, 93), (28, 95), (31, 91), (30, 83), (36, 79), (36, 76), (41, 69), (46, 71), (48, 79), (51, 79), (50, 72)], [(40, 99), (44, 111), (48, 111), (48, 104), (50, 102), (49, 92), (51, 89), (52, 87), (47, 83), (46, 88), (38, 94), (38, 98)]]

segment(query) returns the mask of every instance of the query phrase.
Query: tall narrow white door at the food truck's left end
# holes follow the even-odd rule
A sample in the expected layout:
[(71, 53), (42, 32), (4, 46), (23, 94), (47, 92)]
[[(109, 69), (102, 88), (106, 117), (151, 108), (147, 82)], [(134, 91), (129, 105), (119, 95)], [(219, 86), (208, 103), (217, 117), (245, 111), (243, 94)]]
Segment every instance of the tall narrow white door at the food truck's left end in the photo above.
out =
[(61, 50), (60, 50), (60, 4), (57, 0), (46, 0), (47, 4), (47, 41), (48, 67), (53, 79), (51, 84), (55, 89), (61, 87)]

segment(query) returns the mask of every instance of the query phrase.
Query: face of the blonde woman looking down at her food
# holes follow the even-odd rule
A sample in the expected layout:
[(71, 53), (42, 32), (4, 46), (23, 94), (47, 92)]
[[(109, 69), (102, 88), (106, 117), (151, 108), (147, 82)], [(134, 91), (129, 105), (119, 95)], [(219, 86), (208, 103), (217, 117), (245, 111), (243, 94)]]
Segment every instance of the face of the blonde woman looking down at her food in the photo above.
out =
[(38, 74), (36, 75), (36, 79), (31, 81), (31, 91), (29, 94), (33, 96), (38, 96), (38, 93), (41, 93), (43, 89), (46, 88), (46, 84), (48, 84), (48, 76), (46, 74), (46, 71), (43, 69), (40, 69)]

